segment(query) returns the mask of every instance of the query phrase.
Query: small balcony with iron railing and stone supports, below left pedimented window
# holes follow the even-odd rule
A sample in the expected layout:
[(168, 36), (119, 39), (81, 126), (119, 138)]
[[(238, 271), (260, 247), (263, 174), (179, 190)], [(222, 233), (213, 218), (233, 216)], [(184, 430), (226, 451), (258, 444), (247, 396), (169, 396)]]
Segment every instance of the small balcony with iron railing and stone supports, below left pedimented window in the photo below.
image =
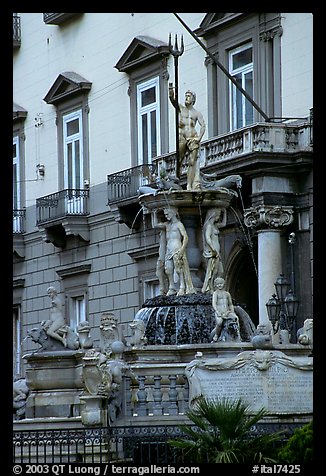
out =
[(43, 241), (64, 248), (69, 235), (89, 241), (89, 191), (61, 190), (36, 200), (36, 224)]

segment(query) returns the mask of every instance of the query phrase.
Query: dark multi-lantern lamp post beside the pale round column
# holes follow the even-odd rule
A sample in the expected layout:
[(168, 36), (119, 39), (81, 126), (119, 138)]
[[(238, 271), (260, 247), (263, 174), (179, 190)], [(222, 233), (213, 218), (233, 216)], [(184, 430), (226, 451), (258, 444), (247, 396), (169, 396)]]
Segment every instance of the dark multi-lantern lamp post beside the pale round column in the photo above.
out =
[(289, 333), (290, 341), (294, 339), (295, 319), (298, 313), (299, 300), (294, 296), (290, 283), (281, 273), (274, 283), (276, 294), (266, 303), (268, 318), (274, 334), (280, 329)]

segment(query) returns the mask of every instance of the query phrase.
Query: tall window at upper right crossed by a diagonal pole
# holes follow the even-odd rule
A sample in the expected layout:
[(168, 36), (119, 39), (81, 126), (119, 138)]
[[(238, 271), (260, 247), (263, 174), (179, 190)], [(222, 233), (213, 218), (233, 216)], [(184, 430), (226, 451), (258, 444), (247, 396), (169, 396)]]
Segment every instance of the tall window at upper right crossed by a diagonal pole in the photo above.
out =
[[(253, 96), (252, 45), (240, 46), (229, 54), (229, 71), (238, 84)], [(239, 129), (253, 123), (253, 106), (232, 84), (230, 87), (230, 129)]]

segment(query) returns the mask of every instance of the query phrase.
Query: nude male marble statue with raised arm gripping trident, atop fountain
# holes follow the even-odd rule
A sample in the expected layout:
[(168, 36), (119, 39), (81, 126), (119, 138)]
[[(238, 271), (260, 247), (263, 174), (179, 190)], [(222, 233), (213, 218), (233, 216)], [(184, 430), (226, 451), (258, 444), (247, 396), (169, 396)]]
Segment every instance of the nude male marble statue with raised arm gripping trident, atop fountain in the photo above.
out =
[[(205, 133), (206, 125), (203, 115), (194, 108), (196, 94), (192, 91), (186, 91), (185, 103), (177, 104), (175, 99), (175, 90), (172, 84), (169, 84), (169, 99), (175, 108), (179, 108), (179, 165), (181, 166), (185, 154), (189, 151), (188, 169), (187, 169), (187, 190), (200, 189), (199, 176), (199, 146)], [(196, 130), (197, 122), (200, 125), (199, 133)]]

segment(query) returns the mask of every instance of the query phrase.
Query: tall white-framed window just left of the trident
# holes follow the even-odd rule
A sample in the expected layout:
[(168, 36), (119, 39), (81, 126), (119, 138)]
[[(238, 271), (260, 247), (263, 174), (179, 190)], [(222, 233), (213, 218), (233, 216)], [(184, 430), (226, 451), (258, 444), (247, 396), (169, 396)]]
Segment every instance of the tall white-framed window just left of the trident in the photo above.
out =
[(160, 155), (159, 78), (137, 86), (138, 163), (151, 163)]

